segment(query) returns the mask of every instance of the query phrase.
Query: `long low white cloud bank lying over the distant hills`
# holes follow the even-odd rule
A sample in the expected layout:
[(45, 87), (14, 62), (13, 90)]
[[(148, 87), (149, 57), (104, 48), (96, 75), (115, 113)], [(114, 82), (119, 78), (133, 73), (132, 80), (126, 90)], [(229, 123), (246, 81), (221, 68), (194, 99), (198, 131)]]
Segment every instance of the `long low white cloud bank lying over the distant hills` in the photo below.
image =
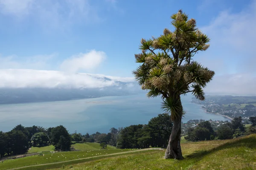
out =
[[(131, 82), (130, 79), (127, 78), (126, 82)], [(29, 69), (0, 70), (0, 88), (104, 88), (119, 86), (116, 81), (119, 81), (117, 77), (116, 80), (106, 80), (96, 74)]]

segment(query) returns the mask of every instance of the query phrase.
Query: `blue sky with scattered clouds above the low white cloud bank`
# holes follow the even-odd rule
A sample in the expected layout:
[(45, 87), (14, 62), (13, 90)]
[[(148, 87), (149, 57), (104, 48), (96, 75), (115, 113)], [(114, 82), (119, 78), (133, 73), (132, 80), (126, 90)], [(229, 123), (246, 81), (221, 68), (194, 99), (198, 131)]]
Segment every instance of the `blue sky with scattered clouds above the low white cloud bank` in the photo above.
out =
[(256, 0), (0, 0), (0, 69), (132, 77), (140, 39), (180, 8), (211, 38), (195, 57), (216, 72), (206, 91), (255, 93)]

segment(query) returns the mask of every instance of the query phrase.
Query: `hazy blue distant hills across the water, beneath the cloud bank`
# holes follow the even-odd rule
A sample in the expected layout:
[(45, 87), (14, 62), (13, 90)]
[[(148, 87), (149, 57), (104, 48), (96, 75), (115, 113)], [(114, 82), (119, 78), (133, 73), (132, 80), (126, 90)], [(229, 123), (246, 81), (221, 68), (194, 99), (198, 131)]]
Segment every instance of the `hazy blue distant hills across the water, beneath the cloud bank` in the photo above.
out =
[(25, 87), (25, 88), (0, 88), (0, 104), (14, 104), (26, 102), (51, 102), (73, 99), (88, 99), (103, 96), (122, 96), (145, 93), (134, 80), (122, 82), (104, 75), (86, 74), (106, 85), (102, 88), (68, 87), (57, 85), (56, 87)]

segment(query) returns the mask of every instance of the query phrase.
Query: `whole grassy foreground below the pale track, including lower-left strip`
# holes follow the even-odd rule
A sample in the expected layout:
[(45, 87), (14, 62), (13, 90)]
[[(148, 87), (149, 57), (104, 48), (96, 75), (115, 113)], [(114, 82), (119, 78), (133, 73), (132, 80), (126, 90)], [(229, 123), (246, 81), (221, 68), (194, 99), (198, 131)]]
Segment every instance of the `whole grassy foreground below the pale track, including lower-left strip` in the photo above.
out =
[[(45, 164), (34, 167), (24, 167), (22, 170), (256, 170), (256, 134), (237, 139), (186, 142), (182, 143), (182, 152), (184, 160), (163, 159), (165, 150), (144, 150), (121, 155), (109, 155), (105, 153), (122, 153), (122, 150), (98, 150), (98, 151), (80, 151), (55, 153), (51, 160), (45, 156), (32, 156), (17, 160), (12, 160), (0, 164), (0, 170), (8, 169), (8, 165), (23, 166), (22, 164), (32, 164), (34, 161), (43, 161), (41, 163), (66, 161), (55, 164)], [(123, 150), (125, 152), (127, 150)], [(78, 159), (87, 153), (88, 159)], [(103, 153), (103, 156), (96, 157), (96, 153)], [(64, 159), (61, 154), (65, 154)], [(77, 154), (77, 155), (76, 155)], [(92, 155), (93, 154), (93, 155)], [(100, 154), (102, 155), (102, 154)], [(60, 158), (58, 158), (58, 156)], [(73, 157), (74, 158), (73, 158)], [(93, 157), (91, 157), (93, 156)], [(84, 158), (82, 157), (82, 158)], [(46, 159), (48, 158), (48, 159)]]

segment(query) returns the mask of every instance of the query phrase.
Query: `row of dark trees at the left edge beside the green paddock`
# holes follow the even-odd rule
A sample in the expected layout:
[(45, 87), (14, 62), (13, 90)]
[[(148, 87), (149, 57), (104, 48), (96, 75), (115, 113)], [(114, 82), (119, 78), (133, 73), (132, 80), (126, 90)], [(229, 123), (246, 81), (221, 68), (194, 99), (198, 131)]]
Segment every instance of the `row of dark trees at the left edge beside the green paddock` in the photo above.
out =
[(31, 146), (41, 147), (49, 143), (53, 144), (56, 150), (70, 150), (71, 135), (62, 125), (48, 129), (35, 125), (17, 125), (9, 132), (0, 131), (0, 158), (23, 154)]

